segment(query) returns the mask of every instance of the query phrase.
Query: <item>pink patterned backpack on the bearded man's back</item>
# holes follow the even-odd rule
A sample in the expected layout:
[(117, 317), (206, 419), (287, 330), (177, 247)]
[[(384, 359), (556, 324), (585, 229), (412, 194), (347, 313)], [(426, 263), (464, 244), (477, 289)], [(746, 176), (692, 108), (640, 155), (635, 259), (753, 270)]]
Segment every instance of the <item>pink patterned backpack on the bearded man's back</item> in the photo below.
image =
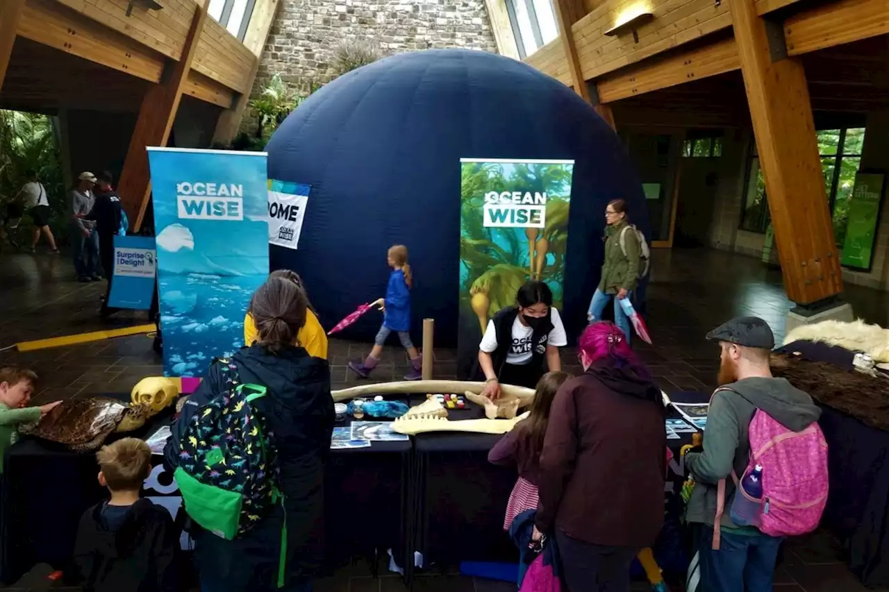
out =
[[(743, 474), (739, 477), (733, 471), (732, 478), (737, 488), (735, 495), (745, 495), (741, 480), (756, 465), (762, 466), (763, 508), (759, 530), (773, 537), (815, 530), (828, 501), (828, 444), (818, 423), (794, 432), (757, 409), (747, 433), (750, 460)], [(722, 479), (717, 489), (716, 524), (724, 509), (725, 479)], [(713, 529), (713, 548), (719, 548), (718, 528)]]

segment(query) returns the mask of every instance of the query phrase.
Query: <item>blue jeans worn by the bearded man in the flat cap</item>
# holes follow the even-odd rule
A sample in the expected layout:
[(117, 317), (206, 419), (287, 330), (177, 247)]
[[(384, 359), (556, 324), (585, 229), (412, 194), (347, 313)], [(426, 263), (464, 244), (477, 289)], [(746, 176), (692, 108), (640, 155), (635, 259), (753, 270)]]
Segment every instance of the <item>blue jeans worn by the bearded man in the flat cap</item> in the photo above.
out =
[(782, 538), (767, 534), (720, 534), (713, 550), (713, 529), (701, 526), (698, 553), (701, 560), (700, 592), (772, 592), (775, 562)]

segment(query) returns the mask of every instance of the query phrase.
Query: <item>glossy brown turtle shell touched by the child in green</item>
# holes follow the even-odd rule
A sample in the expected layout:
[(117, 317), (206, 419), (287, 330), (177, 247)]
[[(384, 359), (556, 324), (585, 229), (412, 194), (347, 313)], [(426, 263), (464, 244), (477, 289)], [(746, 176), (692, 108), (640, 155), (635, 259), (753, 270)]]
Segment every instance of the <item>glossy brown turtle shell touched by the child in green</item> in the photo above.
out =
[(115, 430), (128, 408), (128, 404), (105, 396), (64, 401), (35, 426), (22, 431), (78, 450), (92, 450)]

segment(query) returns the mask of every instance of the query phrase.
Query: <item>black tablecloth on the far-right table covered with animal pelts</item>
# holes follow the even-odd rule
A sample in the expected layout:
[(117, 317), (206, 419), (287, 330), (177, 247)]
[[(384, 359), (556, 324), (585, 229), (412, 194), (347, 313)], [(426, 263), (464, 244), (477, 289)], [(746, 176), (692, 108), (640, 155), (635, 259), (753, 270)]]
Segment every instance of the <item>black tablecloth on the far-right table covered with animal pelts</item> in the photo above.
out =
[[(795, 341), (782, 348), (805, 358), (853, 368), (853, 353), (823, 343)], [(849, 568), (870, 588), (889, 585), (889, 432), (821, 405), (828, 442), (830, 492), (821, 524), (849, 551)]]

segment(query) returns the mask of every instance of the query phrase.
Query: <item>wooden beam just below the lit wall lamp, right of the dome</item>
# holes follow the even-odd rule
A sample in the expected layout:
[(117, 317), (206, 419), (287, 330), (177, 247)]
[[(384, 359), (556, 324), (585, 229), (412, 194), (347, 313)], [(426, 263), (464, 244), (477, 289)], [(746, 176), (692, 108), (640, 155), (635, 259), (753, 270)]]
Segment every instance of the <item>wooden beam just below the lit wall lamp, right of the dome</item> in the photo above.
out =
[(658, 91), (677, 84), (717, 76), (741, 68), (734, 39), (691, 50), (678, 51), (660, 60), (645, 61), (596, 81), (599, 99), (604, 103)]

